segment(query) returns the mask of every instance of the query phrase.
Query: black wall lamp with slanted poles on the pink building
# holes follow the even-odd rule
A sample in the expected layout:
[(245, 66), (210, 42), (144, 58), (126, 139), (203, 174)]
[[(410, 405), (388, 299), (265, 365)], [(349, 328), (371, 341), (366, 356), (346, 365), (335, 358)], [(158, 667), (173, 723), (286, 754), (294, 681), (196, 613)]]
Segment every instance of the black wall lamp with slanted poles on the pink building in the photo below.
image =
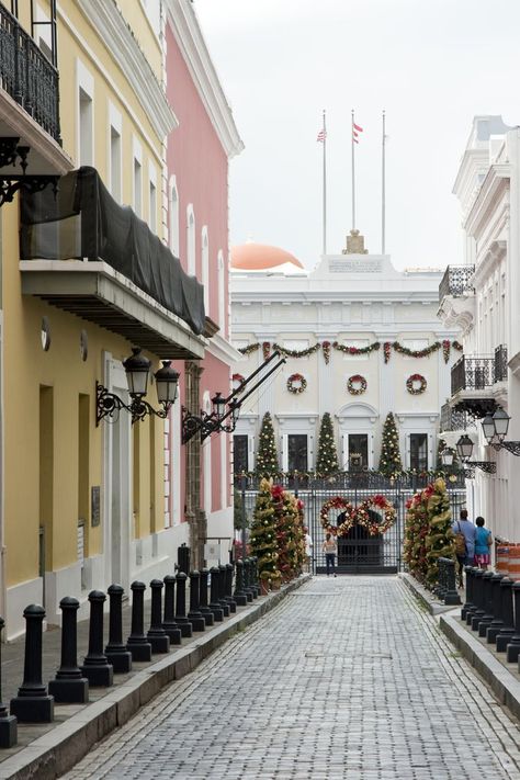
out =
[(200, 433), (201, 441), (204, 441), (204, 439), (212, 433), (233, 433), (237, 425), (238, 415), (240, 414), (240, 407), (246, 398), (248, 398), (251, 393), (257, 389), (257, 387), (265, 382), (268, 376), (285, 363), (285, 358), (282, 358), (275, 365), (273, 365), (267, 374), (263, 374), (263, 376), (255, 383), (246, 395), (244, 395), (240, 399), (238, 396), (244, 392), (246, 385), (249, 384), (255, 376), (260, 374), (260, 372), (262, 372), (265, 366), (274, 360), (274, 358), (279, 357), (280, 352), (274, 351), (268, 360), (265, 360), (261, 365), (259, 365), (258, 369), (256, 369), (256, 371), (252, 372), (252, 374), (242, 380), (238, 387), (236, 387), (236, 389), (234, 389), (231, 395), (227, 398), (223, 398), (221, 393), (216, 393), (212, 398), (213, 408), (210, 414), (201, 411), (200, 415), (193, 415), (191, 411), (188, 411), (188, 409), (182, 407), (182, 443), (185, 444), (189, 442), (195, 433)]

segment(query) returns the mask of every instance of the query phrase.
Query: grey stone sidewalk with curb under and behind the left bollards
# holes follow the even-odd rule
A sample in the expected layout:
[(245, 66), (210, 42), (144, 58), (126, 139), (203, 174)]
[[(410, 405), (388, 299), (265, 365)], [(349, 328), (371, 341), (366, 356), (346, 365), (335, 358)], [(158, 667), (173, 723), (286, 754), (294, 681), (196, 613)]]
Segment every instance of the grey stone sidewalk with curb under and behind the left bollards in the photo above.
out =
[[(224, 619), (191, 638), (183, 638), (181, 646), (171, 646), (167, 655), (154, 655), (150, 663), (135, 663), (126, 675), (114, 675), (112, 688), (90, 688), (89, 704), (55, 704), (54, 723), (19, 724), (18, 745), (0, 750), (0, 779), (56, 778), (74, 766), (91, 745), (113, 728), (121, 726), (150, 701), (165, 685), (180, 679), (196, 667), (216, 647), (244, 630), (251, 622), (272, 609), (293, 588), (309, 579), (303, 575), (280, 591), (260, 597), (247, 607), (238, 607), (237, 613)], [(189, 596), (188, 596), (189, 597)], [(149, 626), (149, 601), (145, 602), (145, 632)], [(108, 614), (105, 615), (104, 644), (108, 641)], [(78, 663), (88, 649), (89, 621), (78, 623)], [(123, 637), (131, 633), (131, 608), (123, 608)], [(60, 662), (60, 634), (56, 628), (43, 635), (43, 681), (54, 679)], [(9, 704), (16, 696), (23, 679), (24, 640), (2, 645), (2, 697)]]

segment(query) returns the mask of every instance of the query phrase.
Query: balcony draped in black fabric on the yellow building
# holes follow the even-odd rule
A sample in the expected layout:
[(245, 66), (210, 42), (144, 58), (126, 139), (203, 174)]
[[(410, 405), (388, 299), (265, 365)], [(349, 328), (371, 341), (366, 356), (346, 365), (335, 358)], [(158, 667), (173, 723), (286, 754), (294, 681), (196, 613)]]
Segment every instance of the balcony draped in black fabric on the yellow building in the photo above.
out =
[[(22, 193), (22, 292), (95, 323), (159, 358), (204, 357), (203, 286), (93, 168)], [(214, 330), (213, 330), (214, 332)]]

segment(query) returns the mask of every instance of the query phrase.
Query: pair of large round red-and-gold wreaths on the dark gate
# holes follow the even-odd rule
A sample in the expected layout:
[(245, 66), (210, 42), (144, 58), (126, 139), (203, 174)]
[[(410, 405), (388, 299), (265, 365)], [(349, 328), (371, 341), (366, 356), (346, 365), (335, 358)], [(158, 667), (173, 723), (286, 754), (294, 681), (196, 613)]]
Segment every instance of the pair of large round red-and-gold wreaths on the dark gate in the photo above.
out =
[[(329, 511), (331, 509), (342, 509), (343, 520), (339, 525), (331, 525), (329, 522)], [(374, 511), (378, 510), (383, 513), (381, 522), (373, 520)], [(395, 523), (397, 511), (394, 505), (388, 501), (386, 496), (376, 494), (366, 500), (362, 501), (358, 507), (352, 506), (350, 501), (342, 496), (335, 496), (326, 501), (319, 512), (321, 525), (325, 531), (332, 533), (335, 536), (344, 536), (353, 525), (362, 525), (371, 536), (377, 536), (386, 533)]]

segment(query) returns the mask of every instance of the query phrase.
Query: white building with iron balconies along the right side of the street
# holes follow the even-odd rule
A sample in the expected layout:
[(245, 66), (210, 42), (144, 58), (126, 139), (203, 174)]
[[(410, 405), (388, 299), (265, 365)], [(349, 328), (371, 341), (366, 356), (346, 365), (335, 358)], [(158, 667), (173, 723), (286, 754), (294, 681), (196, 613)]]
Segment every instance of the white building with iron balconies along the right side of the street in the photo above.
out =
[(506, 410), (507, 439), (520, 440), (520, 129), (500, 116), (476, 116), (453, 191), (462, 207), (464, 258), (446, 269), (439, 316), (459, 328), (464, 355), (452, 371), (443, 436), (455, 443), (467, 433), (472, 460), (496, 464), (495, 474), (475, 468), (470, 507), (497, 535), (518, 542), (520, 460), (487, 443), (482, 420)]

